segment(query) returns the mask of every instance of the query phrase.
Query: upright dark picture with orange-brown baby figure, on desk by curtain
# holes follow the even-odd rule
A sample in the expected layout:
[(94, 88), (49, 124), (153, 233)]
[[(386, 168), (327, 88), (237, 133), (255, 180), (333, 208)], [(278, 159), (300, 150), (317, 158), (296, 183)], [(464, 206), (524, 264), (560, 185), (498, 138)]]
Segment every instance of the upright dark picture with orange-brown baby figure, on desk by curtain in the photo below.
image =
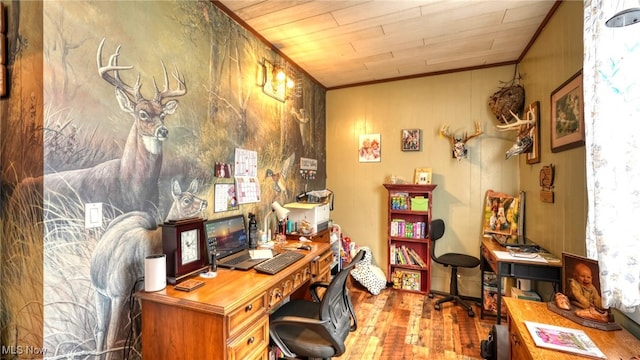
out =
[(598, 261), (570, 253), (562, 253), (562, 293), (571, 304), (586, 309), (602, 308)]

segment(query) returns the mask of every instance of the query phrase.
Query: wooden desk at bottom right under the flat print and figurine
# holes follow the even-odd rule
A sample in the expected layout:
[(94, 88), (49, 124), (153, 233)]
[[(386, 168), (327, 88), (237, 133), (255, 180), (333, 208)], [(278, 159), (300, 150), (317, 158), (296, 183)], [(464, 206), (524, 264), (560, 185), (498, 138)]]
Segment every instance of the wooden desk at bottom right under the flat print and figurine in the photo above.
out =
[(640, 355), (640, 341), (627, 330), (603, 331), (585, 327), (547, 309), (544, 302), (505, 298), (511, 359), (577, 359), (575, 354), (537, 347), (525, 321), (583, 330), (598, 346), (607, 359), (631, 359)]

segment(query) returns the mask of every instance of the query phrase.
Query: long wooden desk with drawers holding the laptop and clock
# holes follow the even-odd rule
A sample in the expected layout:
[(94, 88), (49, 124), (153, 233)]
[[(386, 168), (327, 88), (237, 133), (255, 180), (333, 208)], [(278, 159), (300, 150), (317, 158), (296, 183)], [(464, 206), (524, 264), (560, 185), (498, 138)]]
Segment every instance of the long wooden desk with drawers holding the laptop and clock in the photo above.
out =
[[(330, 245), (310, 243), (306, 256), (276, 275), (255, 270), (218, 269), (191, 292), (173, 285), (138, 292), (142, 303), (142, 356), (145, 359), (268, 359), (269, 313), (291, 296), (305, 297), (308, 286), (326, 279), (333, 260)], [(330, 275), (329, 275), (330, 276)]]

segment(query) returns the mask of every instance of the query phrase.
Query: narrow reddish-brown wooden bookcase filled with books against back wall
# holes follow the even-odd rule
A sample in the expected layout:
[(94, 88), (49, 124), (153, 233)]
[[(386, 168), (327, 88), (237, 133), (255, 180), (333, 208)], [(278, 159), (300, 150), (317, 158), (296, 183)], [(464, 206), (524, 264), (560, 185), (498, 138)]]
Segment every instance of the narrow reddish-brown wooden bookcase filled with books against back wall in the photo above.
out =
[[(436, 185), (384, 184), (384, 187), (388, 209), (387, 280), (396, 289), (428, 294), (431, 289), (429, 226)], [(416, 256), (419, 259), (415, 259)]]

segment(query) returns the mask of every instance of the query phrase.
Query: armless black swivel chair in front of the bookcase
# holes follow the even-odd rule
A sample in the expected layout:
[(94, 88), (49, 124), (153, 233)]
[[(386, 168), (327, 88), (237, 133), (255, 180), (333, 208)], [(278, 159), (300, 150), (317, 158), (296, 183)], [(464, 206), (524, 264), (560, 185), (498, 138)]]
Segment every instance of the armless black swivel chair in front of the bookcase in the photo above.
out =
[[(444, 220), (432, 220), (429, 230), (429, 238), (431, 239), (431, 259), (433, 259), (433, 261), (437, 262), (438, 264), (451, 266), (449, 295), (443, 297), (442, 299), (438, 299), (433, 307), (436, 310), (440, 310), (440, 304), (448, 301), (453, 301), (456, 304), (464, 307), (470, 317), (474, 317), (475, 313), (473, 312), (473, 308), (471, 307), (471, 305), (465, 303), (458, 294), (458, 268), (474, 268), (480, 265), (480, 259), (471, 255), (458, 253), (446, 253), (440, 256), (436, 256), (436, 241), (442, 238), (442, 235), (444, 235)], [(433, 295), (433, 292), (429, 292), (430, 298), (433, 298)]]

